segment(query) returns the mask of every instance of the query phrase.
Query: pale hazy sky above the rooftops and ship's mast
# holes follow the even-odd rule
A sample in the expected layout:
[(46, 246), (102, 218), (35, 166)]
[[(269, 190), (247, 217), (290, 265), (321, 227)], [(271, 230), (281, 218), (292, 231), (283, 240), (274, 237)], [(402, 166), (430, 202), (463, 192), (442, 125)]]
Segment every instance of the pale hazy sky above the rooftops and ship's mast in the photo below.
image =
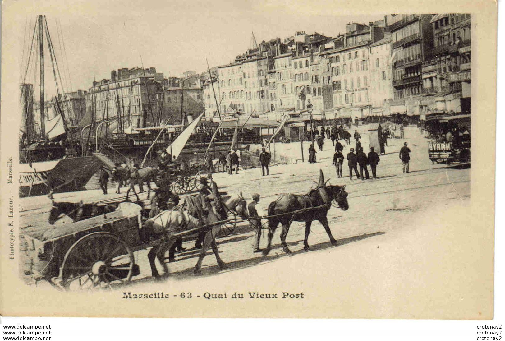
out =
[[(345, 31), (348, 22), (368, 24), (383, 19), (385, 14), (346, 16), (341, 11), (331, 13), (333, 9), (328, 8), (304, 10), (295, 3), (278, 4), (176, 0), (144, 5), (114, 0), (84, 7), (85, 3), (76, 2), (75, 11), (64, 15), (52, 9), (27, 14), (17, 21), (19, 60), (23, 57), (26, 64), (37, 13), (53, 12), (46, 14), (47, 25), (60, 68), (65, 68), (64, 83), (69, 90), (87, 90), (93, 78), (109, 79), (111, 70), (142, 64), (156, 67), (165, 77), (182, 76), (187, 70), (204, 72), (206, 58), (213, 67), (245, 52), (252, 32), (258, 43), (283, 39), (296, 31), (335, 36)], [(57, 27), (61, 27), (61, 36)], [(60, 53), (61, 40), (66, 56), (64, 50)], [(48, 53), (45, 55), (46, 88), (54, 93), (51, 64)], [(20, 67), (24, 69), (24, 65)]]

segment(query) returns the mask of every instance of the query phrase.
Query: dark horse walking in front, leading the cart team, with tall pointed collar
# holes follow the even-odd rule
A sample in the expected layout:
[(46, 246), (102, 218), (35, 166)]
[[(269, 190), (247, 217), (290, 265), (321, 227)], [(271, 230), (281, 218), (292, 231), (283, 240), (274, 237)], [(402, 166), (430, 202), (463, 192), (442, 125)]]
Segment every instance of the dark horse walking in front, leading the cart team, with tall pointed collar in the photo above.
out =
[[(345, 191), (345, 185), (326, 185), (324, 182), (323, 171), (320, 169), (319, 183), (317, 187), (310, 190), (308, 194), (304, 196), (298, 196), (295, 194), (283, 194), (276, 201), (271, 202), (268, 206), (268, 215), (274, 217), (268, 218), (268, 246), (263, 250), (263, 256), (267, 256), (270, 252), (272, 237), (274, 236), (275, 229), (279, 223), (282, 224), (282, 248), (286, 255), (292, 255), (286, 244), (286, 235), (289, 232), (289, 226), (293, 220), (305, 221), (305, 251), (308, 251), (310, 249), (308, 239), (313, 220), (319, 220), (319, 222), (326, 230), (326, 233), (328, 233), (331, 244), (334, 246), (338, 245), (337, 241), (331, 234), (330, 226), (328, 225), (328, 218), (326, 217), (332, 201), (335, 201), (338, 207), (343, 211), (346, 211), (349, 208), (349, 204), (347, 203), (347, 192)], [(318, 206), (323, 207), (311, 209)], [(308, 210), (299, 213), (291, 213), (293, 211), (304, 209)]]

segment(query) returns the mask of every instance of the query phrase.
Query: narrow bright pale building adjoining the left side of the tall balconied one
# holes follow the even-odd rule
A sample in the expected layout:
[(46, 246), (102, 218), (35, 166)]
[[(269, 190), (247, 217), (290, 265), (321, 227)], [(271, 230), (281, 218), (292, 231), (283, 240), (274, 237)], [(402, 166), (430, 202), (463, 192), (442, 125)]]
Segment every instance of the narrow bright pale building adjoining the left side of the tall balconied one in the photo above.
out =
[(383, 105), (394, 97), (391, 69), (391, 37), (373, 43), (368, 48), (369, 80), (364, 86), (369, 87), (369, 102), (372, 106), (372, 115), (388, 115), (383, 111)]

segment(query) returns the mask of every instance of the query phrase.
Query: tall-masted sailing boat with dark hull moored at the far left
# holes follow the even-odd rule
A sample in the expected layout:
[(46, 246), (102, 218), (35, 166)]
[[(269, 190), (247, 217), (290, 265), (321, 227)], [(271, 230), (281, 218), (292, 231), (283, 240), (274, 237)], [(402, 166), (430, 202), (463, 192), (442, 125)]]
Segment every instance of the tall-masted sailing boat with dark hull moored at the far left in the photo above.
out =
[[(47, 117), (44, 99), (44, 31), (58, 92), (54, 99), (54, 115), (51, 119)], [(37, 47), (38, 61), (37, 54), (33, 53)], [(35, 83), (36, 66), (31, 63), (36, 64), (36, 62), (40, 62), (40, 103), (38, 106), (40, 117), (38, 120), (33, 115), (34, 84), (26, 83), (29, 70), (34, 70)], [(60, 84), (58, 84), (57, 74)], [(71, 131), (67, 125), (65, 112), (61, 108), (60, 86), (63, 88), (63, 82), (47, 20), (44, 15), (39, 15), (33, 27), (32, 44), (26, 63), (25, 77), (21, 84), (22, 120), (18, 168), (20, 197), (80, 189), (102, 166), (102, 161), (95, 156), (71, 157), (74, 145), (69, 138)]]

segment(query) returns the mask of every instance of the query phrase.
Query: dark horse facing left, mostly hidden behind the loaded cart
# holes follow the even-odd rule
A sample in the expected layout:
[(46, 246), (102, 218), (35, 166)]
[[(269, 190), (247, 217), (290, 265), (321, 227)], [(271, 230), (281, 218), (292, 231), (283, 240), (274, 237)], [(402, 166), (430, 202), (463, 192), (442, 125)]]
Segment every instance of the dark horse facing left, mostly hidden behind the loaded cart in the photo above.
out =
[(109, 205), (97, 205), (95, 203), (83, 204), (82, 201), (79, 203), (57, 203), (52, 201), (52, 208), (49, 211), (49, 224), (54, 225), (54, 223), (64, 216), (70, 217), (73, 222), (87, 219), (90, 217), (95, 217), (100, 214), (110, 213), (116, 210), (119, 203), (109, 204)]

